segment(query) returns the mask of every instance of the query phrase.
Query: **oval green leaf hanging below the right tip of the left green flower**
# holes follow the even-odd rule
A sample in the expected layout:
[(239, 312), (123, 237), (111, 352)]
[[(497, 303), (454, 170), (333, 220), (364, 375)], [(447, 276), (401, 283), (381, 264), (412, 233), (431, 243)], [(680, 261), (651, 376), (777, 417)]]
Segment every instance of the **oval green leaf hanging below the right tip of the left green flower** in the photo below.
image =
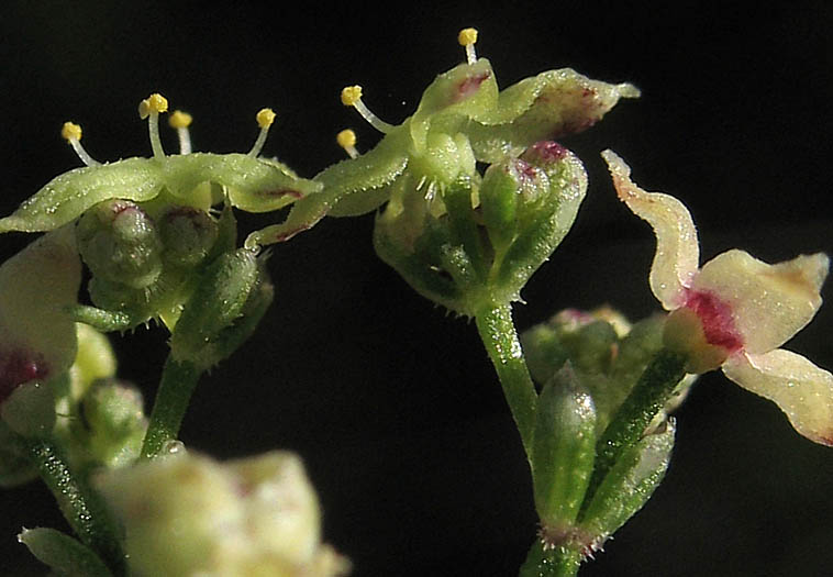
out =
[(185, 304), (170, 337), (173, 358), (199, 370), (215, 365), (251, 334), (270, 301), (271, 286), (256, 253), (224, 253), (206, 268)]

